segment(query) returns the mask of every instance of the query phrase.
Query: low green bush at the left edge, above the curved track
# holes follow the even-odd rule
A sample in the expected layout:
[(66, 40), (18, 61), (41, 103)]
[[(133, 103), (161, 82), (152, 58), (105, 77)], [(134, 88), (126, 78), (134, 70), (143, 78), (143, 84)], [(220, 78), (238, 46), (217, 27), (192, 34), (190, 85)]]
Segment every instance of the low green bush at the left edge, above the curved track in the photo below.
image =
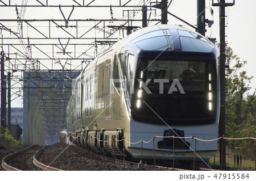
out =
[(18, 140), (15, 140), (11, 132), (7, 128), (0, 127), (0, 145), (5, 148), (22, 145)]

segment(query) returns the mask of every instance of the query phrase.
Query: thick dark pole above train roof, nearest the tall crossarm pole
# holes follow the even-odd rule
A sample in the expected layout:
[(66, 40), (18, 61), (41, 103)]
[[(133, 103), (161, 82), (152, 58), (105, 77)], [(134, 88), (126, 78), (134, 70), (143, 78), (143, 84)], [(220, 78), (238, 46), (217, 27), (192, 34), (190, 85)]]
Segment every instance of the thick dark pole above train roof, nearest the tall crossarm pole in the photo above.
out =
[(197, 28), (196, 32), (205, 36), (205, 0), (197, 0)]

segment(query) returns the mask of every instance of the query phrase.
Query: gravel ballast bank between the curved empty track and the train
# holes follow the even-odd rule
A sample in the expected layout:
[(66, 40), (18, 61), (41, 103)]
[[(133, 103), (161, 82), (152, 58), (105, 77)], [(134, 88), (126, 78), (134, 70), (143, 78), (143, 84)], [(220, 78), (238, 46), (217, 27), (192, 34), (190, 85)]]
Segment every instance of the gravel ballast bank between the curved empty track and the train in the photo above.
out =
[[(52, 145), (53, 146), (53, 145)], [(47, 161), (42, 161), (45, 163), (50, 163), (53, 159), (52, 166), (59, 167), (63, 170), (179, 170), (179, 171), (191, 171), (191, 168), (182, 168), (182, 167), (166, 167), (166, 166), (154, 166), (150, 164), (139, 164), (137, 161), (123, 161), (123, 155), (116, 157), (104, 157), (102, 154), (97, 154), (91, 149), (82, 148), (77, 145), (68, 144), (62, 146), (56, 146), (55, 149), (47, 149), (44, 153), (48, 156), (51, 156)], [(65, 149), (67, 148), (67, 149)], [(63, 153), (61, 153), (63, 151)], [(61, 154), (60, 154), (61, 153)], [(55, 154), (55, 155), (54, 155)], [(43, 158), (46, 158), (46, 155)], [(58, 158), (57, 158), (58, 157)], [(40, 160), (41, 161), (41, 160)], [(62, 163), (61, 163), (62, 162)], [(142, 166), (142, 167), (141, 167)], [(196, 170), (211, 170), (197, 167)]]

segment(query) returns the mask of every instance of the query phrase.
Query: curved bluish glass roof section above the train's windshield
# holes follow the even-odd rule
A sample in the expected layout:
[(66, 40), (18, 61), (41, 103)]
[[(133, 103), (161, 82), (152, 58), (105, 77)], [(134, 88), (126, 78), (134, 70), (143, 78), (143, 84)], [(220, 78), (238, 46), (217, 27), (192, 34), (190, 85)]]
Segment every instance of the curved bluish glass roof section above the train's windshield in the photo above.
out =
[(142, 28), (122, 40), (142, 50), (182, 50), (187, 52), (213, 52), (216, 46), (199, 33), (180, 26), (162, 24)]

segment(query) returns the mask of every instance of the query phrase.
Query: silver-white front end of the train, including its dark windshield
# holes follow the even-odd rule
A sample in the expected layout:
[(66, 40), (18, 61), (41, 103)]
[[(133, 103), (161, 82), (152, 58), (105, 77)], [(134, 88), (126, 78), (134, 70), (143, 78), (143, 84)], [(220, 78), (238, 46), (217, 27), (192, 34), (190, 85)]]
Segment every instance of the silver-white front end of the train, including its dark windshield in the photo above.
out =
[[(136, 33), (139, 35), (139, 31)], [(195, 141), (191, 137), (217, 138), (217, 47), (198, 33), (170, 26), (146, 28), (139, 36), (131, 36), (127, 45), (121, 50), (128, 50), (127, 62), (120, 61), (127, 81), (126, 107), (130, 105), (129, 115), (123, 113), (121, 119), (125, 124), (125, 117), (130, 117), (125, 137), (131, 143), (126, 143), (126, 149), (141, 158), (141, 142), (133, 143), (156, 136), (155, 145), (152, 140), (143, 143), (143, 158), (152, 159), (155, 148), (156, 159), (172, 159), (175, 149), (175, 159), (191, 161), (197, 142), (196, 160), (209, 161), (216, 153), (217, 141)], [(138, 52), (135, 55), (134, 49)], [(137, 62), (137, 66), (131, 62)], [(181, 138), (173, 140), (171, 136)]]

